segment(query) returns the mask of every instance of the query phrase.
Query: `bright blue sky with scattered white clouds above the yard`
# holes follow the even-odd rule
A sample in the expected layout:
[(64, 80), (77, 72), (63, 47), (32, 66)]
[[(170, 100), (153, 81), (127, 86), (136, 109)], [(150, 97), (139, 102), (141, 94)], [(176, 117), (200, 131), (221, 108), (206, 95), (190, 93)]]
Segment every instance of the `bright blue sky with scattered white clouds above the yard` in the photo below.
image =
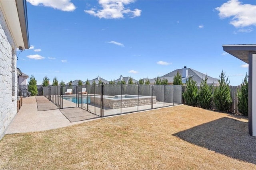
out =
[(255, 0), (27, 0), (30, 49), (17, 67), (60, 82), (155, 78), (187, 66), (230, 85), (248, 65), (222, 45), (256, 44)]

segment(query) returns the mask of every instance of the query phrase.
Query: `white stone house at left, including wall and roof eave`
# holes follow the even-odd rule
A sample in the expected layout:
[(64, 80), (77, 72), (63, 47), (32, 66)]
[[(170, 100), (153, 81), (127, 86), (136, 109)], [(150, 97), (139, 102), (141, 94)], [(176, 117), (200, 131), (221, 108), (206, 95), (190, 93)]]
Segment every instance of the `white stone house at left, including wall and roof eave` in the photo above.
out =
[(16, 48), (29, 48), (26, 0), (0, 0), (0, 139), (17, 114)]

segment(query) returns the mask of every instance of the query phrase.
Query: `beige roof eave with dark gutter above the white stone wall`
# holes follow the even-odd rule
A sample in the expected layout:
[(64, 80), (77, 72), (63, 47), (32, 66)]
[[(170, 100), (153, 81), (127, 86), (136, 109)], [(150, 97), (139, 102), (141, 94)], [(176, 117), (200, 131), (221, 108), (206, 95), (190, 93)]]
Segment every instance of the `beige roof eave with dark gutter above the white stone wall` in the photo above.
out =
[(0, 8), (16, 47), (29, 48), (26, 0), (1, 0)]

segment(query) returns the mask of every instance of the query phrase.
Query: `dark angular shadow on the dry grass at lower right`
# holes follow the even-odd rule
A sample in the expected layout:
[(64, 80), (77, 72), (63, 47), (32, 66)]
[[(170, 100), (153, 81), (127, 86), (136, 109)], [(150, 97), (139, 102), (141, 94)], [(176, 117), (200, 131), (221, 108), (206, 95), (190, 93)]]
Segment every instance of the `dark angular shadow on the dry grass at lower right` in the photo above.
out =
[(248, 135), (247, 122), (223, 117), (173, 135), (231, 158), (256, 164), (256, 137)]

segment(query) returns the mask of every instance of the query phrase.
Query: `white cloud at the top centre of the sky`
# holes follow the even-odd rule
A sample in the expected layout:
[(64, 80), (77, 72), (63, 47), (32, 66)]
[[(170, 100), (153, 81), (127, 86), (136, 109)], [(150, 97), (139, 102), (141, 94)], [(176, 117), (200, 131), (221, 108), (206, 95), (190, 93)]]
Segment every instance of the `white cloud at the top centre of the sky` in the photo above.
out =
[(125, 5), (135, 1), (136, 0), (98, 0), (102, 10), (92, 8), (90, 10), (84, 10), (84, 12), (99, 18), (106, 19), (124, 18), (124, 14), (134, 18), (140, 16), (141, 10), (137, 8), (130, 10), (129, 8), (126, 8)]

